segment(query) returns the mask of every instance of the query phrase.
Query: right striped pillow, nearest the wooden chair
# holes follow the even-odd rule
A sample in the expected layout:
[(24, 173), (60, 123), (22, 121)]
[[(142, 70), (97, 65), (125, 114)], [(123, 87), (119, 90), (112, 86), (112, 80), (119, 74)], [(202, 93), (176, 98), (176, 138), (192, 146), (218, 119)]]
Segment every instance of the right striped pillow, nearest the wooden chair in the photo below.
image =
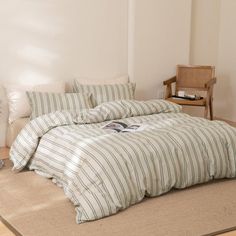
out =
[(87, 85), (74, 81), (73, 91), (78, 93), (90, 93), (92, 105), (95, 107), (104, 102), (115, 100), (133, 100), (135, 84), (101, 84)]

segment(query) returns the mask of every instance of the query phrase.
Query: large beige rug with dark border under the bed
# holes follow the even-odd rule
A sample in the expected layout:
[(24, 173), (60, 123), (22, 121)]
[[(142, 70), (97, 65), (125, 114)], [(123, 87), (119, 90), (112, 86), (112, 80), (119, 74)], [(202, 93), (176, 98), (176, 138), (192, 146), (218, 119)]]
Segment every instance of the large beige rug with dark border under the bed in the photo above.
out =
[(77, 225), (62, 189), (34, 172), (0, 170), (0, 215), (24, 236), (204, 235), (236, 226), (236, 180), (172, 191)]

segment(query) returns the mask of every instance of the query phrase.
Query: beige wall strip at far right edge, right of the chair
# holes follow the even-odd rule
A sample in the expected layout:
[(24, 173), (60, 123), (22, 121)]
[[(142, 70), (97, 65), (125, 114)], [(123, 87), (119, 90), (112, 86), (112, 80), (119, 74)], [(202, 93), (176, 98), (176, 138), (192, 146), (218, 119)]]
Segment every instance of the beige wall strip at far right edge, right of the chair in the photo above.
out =
[(216, 116), (236, 122), (236, 1), (221, 0)]

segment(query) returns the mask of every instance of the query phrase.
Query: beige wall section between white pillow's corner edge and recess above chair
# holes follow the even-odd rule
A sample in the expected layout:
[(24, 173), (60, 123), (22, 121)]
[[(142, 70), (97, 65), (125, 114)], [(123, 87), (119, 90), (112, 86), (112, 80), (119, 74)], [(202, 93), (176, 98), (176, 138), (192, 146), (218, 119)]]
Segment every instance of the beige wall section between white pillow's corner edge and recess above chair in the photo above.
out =
[(163, 80), (189, 62), (191, 1), (136, 0), (133, 76), (137, 97), (163, 97)]

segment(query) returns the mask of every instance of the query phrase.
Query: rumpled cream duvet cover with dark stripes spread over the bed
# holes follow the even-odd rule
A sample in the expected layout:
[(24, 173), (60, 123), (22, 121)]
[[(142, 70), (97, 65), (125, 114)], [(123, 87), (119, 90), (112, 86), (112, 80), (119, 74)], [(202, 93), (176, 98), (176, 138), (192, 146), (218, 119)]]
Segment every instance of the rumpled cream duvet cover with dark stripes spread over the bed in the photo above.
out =
[[(145, 129), (114, 133), (101, 128), (111, 120), (144, 123)], [(172, 188), (234, 178), (236, 129), (190, 117), (163, 100), (115, 101), (32, 120), (10, 158), (15, 171), (28, 166), (61, 186), (81, 223)]]

